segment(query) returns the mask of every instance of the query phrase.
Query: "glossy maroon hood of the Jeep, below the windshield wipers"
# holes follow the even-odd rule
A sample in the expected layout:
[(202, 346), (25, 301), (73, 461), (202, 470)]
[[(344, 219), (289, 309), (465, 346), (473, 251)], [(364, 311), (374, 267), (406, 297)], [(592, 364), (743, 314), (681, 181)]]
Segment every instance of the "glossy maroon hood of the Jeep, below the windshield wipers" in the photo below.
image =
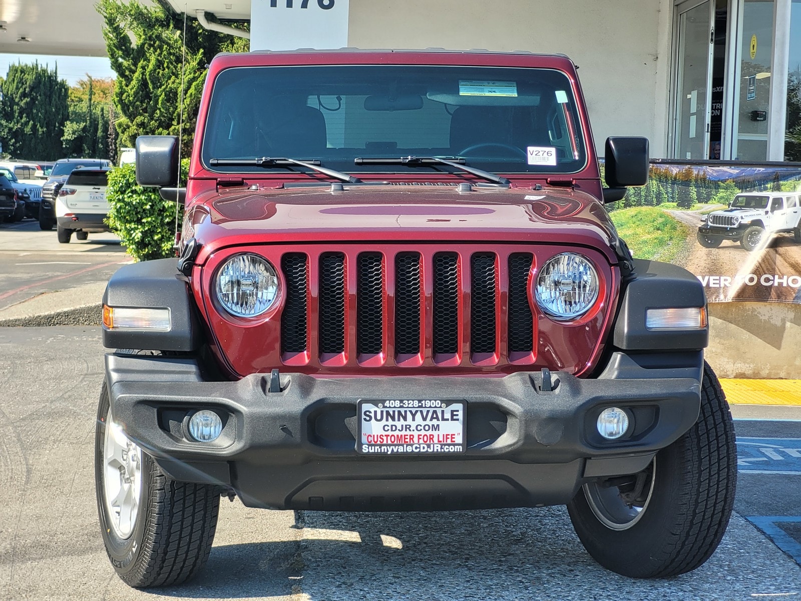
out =
[[(356, 240), (529, 242), (601, 249), (612, 263), (614, 225), (593, 196), (572, 189), (344, 185), (206, 192), (184, 236), (210, 252), (238, 244)], [(191, 228), (187, 225), (191, 224)]]

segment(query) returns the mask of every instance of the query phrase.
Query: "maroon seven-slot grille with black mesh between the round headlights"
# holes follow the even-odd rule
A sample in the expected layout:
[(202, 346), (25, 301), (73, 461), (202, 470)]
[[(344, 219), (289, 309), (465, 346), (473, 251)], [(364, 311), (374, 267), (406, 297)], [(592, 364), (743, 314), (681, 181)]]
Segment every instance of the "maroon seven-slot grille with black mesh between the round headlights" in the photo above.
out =
[(281, 352), (293, 365), (313, 354), (323, 365), (533, 362), (532, 262), (530, 252), (284, 254)]

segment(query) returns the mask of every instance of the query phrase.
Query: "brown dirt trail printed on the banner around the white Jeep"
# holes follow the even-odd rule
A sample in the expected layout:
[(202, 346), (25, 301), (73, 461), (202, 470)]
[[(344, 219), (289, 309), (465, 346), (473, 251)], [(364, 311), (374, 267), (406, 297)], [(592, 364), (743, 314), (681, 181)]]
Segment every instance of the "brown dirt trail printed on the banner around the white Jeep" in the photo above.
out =
[[(690, 211), (667, 211), (670, 216), (698, 228), (701, 215)], [(739, 242), (724, 240), (718, 248), (703, 248), (697, 240), (687, 241), (690, 252), (682, 260), (681, 266), (696, 276), (713, 276), (718, 285), (710, 285), (707, 281), (706, 296), (710, 301), (726, 300), (767, 300), (774, 302), (798, 302), (801, 300), (801, 288), (789, 285), (765, 285), (763, 275), (801, 276), (801, 244), (796, 244), (791, 234), (778, 234), (767, 243), (761, 251), (747, 252)], [(756, 276), (755, 284), (735, 284), (735, 276)], [(721, 285), (717, 276), (727, 276), (732, 280), (731, 286)], [(753, 281), (753, 278), (751, 278)]]

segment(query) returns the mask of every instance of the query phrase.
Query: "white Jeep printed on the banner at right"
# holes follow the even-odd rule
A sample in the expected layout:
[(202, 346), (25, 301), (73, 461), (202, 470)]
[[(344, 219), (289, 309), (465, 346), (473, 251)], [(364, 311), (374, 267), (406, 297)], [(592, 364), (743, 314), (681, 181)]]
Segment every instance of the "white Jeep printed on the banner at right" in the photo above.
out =
[(792, 233), (801, 243), (801, 197), (797, 192), (749, 192), (738, 194), (729, 208), (702, 217), (698, 242), (718, 248), (723, 240), (738, 242), (755, 251), (768, 236)]

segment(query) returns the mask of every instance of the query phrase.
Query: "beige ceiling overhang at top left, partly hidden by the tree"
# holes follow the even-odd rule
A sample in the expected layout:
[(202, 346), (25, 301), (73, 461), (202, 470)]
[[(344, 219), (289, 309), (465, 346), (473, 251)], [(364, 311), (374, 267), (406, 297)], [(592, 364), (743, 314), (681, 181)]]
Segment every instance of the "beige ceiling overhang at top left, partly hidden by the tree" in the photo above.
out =
[[(247, 20), (251, 0), (157, 0), (190, 16), (206, 10), (218, 20)], [(0, 0), (0, 53), (106, 56), (96, 0)], [(22, 41), (19, 41), (22, 40)]]

